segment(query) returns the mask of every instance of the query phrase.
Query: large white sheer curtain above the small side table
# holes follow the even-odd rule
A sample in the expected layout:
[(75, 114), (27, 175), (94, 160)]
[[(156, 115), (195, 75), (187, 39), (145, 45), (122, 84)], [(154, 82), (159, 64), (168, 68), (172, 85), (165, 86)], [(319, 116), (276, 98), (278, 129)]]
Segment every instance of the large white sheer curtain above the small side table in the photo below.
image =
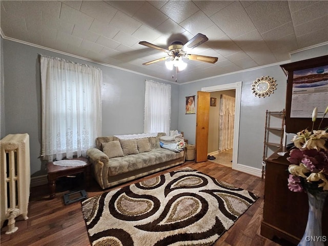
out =
[(43, 158), (86, 156), (101, 135), (102, 72), (48, 56), (40, 64)]

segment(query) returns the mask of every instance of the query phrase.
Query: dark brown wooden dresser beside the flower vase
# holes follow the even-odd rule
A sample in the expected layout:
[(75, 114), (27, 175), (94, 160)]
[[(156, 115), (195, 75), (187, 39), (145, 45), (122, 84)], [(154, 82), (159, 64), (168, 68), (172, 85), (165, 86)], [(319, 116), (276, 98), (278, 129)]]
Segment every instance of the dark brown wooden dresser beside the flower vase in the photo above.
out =
[[(308, 220), (308, 196), (288, 189), (289, 153), (280, 156), (277, 150), (267, 159), (261, 235), (269, 239), (275, 236), (298, 244)], [(328, 199), (325, 200), (322, 217), (322, 235), (328, 235)], [(328, 240), (324, 242), (328, 245)]]

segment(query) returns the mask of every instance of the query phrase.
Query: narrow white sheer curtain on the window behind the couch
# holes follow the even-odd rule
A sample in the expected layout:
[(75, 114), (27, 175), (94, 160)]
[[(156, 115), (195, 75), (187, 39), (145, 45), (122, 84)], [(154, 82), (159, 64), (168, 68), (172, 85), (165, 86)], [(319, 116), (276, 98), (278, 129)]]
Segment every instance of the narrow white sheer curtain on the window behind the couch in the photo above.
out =
[(171, 86), (146, 80), (144, 132), (170, 135)]

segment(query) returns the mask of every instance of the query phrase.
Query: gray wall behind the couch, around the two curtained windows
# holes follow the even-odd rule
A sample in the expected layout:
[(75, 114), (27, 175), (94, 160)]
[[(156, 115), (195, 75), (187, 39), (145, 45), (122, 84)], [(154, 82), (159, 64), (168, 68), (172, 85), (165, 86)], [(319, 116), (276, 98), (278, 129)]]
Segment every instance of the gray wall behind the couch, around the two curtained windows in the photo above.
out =
[[(144, 131), (145, 79), (171, 84), (172, 117), (171, 129), (178, 128), (179, 85), (142, 76), (116, 68), (91, 63), (86, 60), (51, 52), (2, 39), (1, 57), (4, 60), (4, 90), (1, 88), (1, 125), (7, 134), (30, 135), (31, 175), (45, 174), (45, 163), (40, 160), (41, 142), (41, 90), (38, 54), (65, 58), (88, 64), (103, 70), (102, 135), (142, 133)], [(3, 84), (3, 83), (2, 83)], [(4, 111), (4, 113), (3, 113)], [(2, 129), (3, 130), (3, 129)]]

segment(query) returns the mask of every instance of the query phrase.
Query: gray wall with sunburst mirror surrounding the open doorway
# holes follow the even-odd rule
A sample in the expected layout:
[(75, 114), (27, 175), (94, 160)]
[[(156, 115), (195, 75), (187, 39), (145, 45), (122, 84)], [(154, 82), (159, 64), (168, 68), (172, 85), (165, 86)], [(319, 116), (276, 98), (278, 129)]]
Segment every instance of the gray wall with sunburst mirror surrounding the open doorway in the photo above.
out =
[[(291, 54), (291, 60), (304, 60), (328, 54), (328, 45)], [(286, 61), (290, 63), (291, 61)], [(258, 98), (251, 92), (253, 81), (261, 76), (276, 79), (277, 89), (269, 97)], [(280, 111), (285, 108), (286, 75), (279, 65), (245, 70), (239, 73), (195, 81), (180, 86), (179, 129), (184, 131), (188, 144), (195, 144), (196, 114), (183, 112), (185, 96), (197, 94), (203, 87), (225, 85), (242, 81), (239, 146), (237, 163), (261, 169), (263, 155), (265, 111)], [(197, 106), (197, 100), (196, 100)]]

